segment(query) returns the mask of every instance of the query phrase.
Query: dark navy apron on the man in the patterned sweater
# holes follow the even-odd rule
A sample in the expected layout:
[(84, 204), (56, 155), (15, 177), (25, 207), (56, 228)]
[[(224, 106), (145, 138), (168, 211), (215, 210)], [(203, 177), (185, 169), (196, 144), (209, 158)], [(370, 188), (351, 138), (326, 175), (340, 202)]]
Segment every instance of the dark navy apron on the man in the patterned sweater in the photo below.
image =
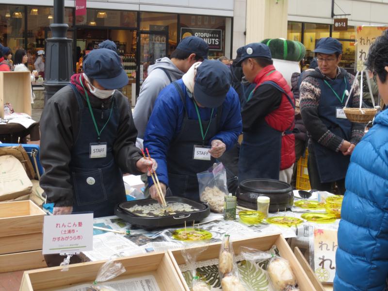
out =
[[(346, 78), (326, 80), (339, 97), (350, 89), (349, 81)], [(350, 141), (352, 135), (352, 123), (348, 119), (337, 118), (337, 108), (343, 108), (343, 101), (334, 94), (332, 89), (322, 79), (319, 80), (321, 98), (318, 105), (318, 114), (327, 129), (335, 135)], [(347, 96), (344, 96), (346, 99)], [(353, 96), (349, 98), (352, 104)], [(344, 179), (348, 170), (350, 156), (344, 156), (342, 152), (335, 152), (328, 147), (322, 146), (313, 139), (311, 150), (314, 151), (315, 160), (321, 183), (334, 182)]]

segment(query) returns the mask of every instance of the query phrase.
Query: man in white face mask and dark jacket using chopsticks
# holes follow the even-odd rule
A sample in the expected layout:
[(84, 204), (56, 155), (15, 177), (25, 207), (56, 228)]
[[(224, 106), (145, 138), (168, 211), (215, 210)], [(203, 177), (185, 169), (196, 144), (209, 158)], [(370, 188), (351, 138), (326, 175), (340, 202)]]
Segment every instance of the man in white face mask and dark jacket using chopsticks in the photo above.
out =
[(53, 214), (93, 211), (113, 215), (126, 201), (122, 173), (145, 173), (154, 161), (135, 147), (137, 131), (128, 98), (115, 90), (128, 84), (120, 57), (96, 49), (84, 57), (84, 73), (71, 77), (45, 105), (40, 120), (40, 186)]

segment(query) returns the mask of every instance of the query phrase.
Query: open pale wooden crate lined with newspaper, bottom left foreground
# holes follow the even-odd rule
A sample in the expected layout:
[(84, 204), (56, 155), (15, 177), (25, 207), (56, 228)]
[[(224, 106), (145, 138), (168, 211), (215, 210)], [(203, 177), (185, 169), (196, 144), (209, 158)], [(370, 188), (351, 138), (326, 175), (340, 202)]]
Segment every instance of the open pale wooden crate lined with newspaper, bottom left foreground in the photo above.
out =
[[(152, 253), (134, 257), (120, 258), (127, 270), (116, 279), (154, 275), (161, 291), (184, 290), (180, 278), (167, 253)], [(20, 291), (54, 291), (85, 283), (92, 284), (98, 270), (106, 261), (73, 264), (68, 271), (63, 267), (52, 267), (24, 272)]]

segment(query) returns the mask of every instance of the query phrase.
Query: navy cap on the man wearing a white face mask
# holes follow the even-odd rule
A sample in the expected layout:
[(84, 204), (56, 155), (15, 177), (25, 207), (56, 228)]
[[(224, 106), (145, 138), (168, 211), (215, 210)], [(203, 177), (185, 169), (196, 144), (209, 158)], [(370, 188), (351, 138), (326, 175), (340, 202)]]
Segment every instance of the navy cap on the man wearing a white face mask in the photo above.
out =
[(121, 59), (111, 49), (93, 49), (83, 58), (83, 72), (108, 90), (128, 85), (128, 76), (121, 68)]

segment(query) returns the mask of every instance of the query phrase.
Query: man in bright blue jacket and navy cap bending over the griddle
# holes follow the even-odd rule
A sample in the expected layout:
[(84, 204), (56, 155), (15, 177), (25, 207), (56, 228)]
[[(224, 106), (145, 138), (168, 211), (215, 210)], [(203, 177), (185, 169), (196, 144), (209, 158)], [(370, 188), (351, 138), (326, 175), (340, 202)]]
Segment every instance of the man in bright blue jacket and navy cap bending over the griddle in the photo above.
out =
[[(197, 173), (232, 147), (241, 133), (240, 102), (230, 69), (219, 61), (197, 62), (159, 94), (144, 146), (158, 162), (165, 193), (199, 200)], [(155, 185), (148, 179), (151, 197)]]

